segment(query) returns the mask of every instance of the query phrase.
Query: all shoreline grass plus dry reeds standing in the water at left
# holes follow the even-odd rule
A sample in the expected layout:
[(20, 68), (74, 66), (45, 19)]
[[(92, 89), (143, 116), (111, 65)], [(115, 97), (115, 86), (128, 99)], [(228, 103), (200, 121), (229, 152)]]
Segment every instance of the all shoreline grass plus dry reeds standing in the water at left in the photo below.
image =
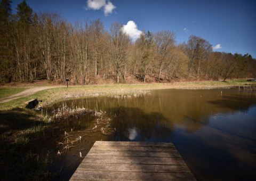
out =
[[(39, 86), (39, 85), (37, 85)], [(52, 86), (52, 85), (51, 85)], [(21, 88), (5, 86), (0, 88), (2, 92), (13, 92), (6, 94), (16, 94), (22, 92), (25, 89), (32, 88), (29, 86), (20, 86)], [(128, 96), (141, 96), (147, 94), (153, 89), (227, 89), (237, 88), (241, 91), (256, 91), (256, 83), (248, 82), (246, 80), (228, 80), (223, 81), (196, 81), (196, 82), (179, 82), (172, 84), (114, 84), (114, 85), (89, 85), (89, 86), (59, 86), (51, 89), (45, 89), (43, 91), (36, 92), (35, 94), (17, 98), (6, 103), (0, 103), (0, 174), (2, 179), (33, 179), (33, 180), (51, 180), (58, 178), (61, 175), (59, 172), (50, 172), (49, 166), (53, 163), (54, 159), (61, 159), (60, 153), (67, 150), (67, 147), (75, 147), (73, 143), (81, 142), (81, 139), (86, 136), (91, 136), (90, 133), (99, 131), (102, 134), (106, 133), (106, 128), (109, 132), (114, 131), (114, 128), (110, 128), (108, 118), (100, 117), (101, 122), (97, 122), (97, 129), (89, 128), (87, 133), (81, 136), (79, 133), (73, 133), (65, 131), (63, 133), (53, 133), (52, 130), (56, 128), (61, 129), (63, 122), (59, 121), (57, 117), (61, 113), (70, 114), (69, 116), (77, 117), (75, 115), (86, 113), (86, 108), (70, 109), (66, 108), (55, 112), (51, 115), (50, 107), (54, 103), (71, 100), (76, 98), (86, 97), (98, 97), (98, 96), (115, 96), (115, 97), (128, 97)], [(2, 97), (3, 98), (3, 97)], [(43, 100), (43, 111), (35, 111), (25, 109), (25, 102), (33, 98)], [(48, 113), (47, 111), (48, 110)], [(102, 110), (104, 111), (104, 110)], [(88, 113), (92, 115), (100, 113), (101, 110), (89, 110)], [(58, 115), (58, 116), (57, 116)], [(50, 120), (50, 121), (49, 121)], [(96, 123), (95, 123), (96, 124)], [(99, 126), (101, 125), (101, 127)], [(104, 132), (105, 131), (105, 132)], [(68, 135), (69, 134), (69, 135)], [(54, 137), (53, 137), (54, 135)], [(73, 135), (73, 141), (70, 143), (64, 142), (67, 137), (71, 140)], [(81, 137), (80, 137), (81, 136)], [(80, 138), (78, 140), (78, 138)], [(65, 144), (58, 145), (58, 149), (54, 152), (46, 153), (42, 155), (42, 150), (45, 148), (45, 142), (50, 139), (57, 139), (59, 143)], [(66, 150), (65, 150), (66, 149)], [(90, 147), (89, 147), (90, 149)], [(41, 151), (40, 151), (41, 150)], [(55, 152), (57, 152), (55, 154)], [(51, 155), (51, 157), (48, 155)], [(83, 156), (84, 152), (83, 152)], [(80, 152), (80, 157), (83, 157)], [(77, 159), (81, 159), (78, 155)]]

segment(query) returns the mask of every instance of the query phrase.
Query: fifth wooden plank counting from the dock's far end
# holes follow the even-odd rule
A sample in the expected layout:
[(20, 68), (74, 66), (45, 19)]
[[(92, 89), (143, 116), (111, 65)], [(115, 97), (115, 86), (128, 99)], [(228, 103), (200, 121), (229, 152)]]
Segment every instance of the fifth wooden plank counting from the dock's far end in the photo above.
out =
[(189, 173), (186, 165), (170, 164), (113, 164), (113, 163), (81, 163), (77, 170), (102, 170), (102, 171), (147, 171), (147, 172), (169, 172), (169, 173)]

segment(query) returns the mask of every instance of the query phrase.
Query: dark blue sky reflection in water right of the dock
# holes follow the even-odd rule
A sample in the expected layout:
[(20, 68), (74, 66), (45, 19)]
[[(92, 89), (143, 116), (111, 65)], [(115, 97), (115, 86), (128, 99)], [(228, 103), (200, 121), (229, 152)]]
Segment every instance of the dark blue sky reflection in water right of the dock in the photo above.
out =
[(246, 114), (237, 111), (211, 117), (209, 125), (193, 134), (177, 129), (174, 144), (199, 180), (253, 180), (255, 117), (255, 106)]

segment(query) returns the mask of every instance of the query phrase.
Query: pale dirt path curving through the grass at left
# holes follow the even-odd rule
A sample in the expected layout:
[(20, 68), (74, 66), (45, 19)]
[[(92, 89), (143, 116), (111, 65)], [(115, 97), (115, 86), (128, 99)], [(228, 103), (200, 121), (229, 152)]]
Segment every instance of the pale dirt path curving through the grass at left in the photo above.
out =
[(44, 86), (44, 87), (29, 88), (25, 91), (18, 93), (18, 94), (13, 94), (9, 97), (1, 98), (0, 103), (9, 102), (9, 101), (15, 100), (16, 98), (25, 97), (25, 96), (34, 94), (36, 92), (43, 91), (45, 89), (54, 88), (54, 87), (57, 87), (57, 86)]

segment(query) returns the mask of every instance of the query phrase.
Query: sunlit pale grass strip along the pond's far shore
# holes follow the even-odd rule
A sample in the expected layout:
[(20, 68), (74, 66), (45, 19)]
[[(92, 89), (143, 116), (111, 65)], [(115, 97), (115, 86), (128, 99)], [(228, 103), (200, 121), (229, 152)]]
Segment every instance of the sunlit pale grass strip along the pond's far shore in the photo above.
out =
[[(12, 108), (24, 108), (25, 102), (33, 98), (43, 100), (42, 105), (50, 105), (61, 100), (79, 97), (95, 97), (95, 96), (114, 96), (122, 94), (136, 94), (138, 91), (149, 91), (153, 89), (212, 89), (212, 88), (229, 88), (233, 86), (246, 86), (246, 80), (230, 80), (230, 81), (198, 81), (198, 82), (181, 82), (173, 84), (137, 84), (137, 85), (95, 85), (95, 86), (71, 86), (57, 87), (37, 92), (33, 95), (18, 98), (7, 103), (0, 104), (0, 110), (10, 110)], [(9, 88), (12, 89), (12, 88)]]

